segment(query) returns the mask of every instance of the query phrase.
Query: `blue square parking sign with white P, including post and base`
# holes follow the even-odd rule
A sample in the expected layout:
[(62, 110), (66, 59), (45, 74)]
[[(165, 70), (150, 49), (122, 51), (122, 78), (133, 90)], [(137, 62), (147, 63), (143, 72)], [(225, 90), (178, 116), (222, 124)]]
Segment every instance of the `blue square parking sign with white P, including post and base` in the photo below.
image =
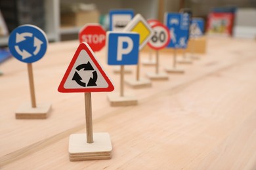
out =
[(124, 65), (136, 65), (139, 58), (139, 34), (110, 32), (107, 33), (108, 65), (121, 65), (120, 93), (111, 93), (108, 99), (112, 106), (137, 105), (136, 97), (127, 95), (123, 89)]

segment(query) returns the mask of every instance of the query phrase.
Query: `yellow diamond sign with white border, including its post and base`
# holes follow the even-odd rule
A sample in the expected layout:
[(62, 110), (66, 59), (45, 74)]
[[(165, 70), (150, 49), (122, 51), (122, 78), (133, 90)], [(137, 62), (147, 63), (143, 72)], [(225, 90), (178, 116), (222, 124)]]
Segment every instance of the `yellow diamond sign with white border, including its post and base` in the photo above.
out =
[[(140, 15), (137, 14), (131, 22), (123, 29), (123, 31), (135, 32), (140, 35), (140, 46), (139, 50), (141, 50), (153, 36), (154, 31), (150, 27), (150, 25), (146, 22), (146, 20)], [(126, 80), (125, 81), (129, 86), (133, 88), (143, 88), (152, 86), (150, 80), (140, 78), (140, 62), (137, 64), (137, 73), (135, 80)]]

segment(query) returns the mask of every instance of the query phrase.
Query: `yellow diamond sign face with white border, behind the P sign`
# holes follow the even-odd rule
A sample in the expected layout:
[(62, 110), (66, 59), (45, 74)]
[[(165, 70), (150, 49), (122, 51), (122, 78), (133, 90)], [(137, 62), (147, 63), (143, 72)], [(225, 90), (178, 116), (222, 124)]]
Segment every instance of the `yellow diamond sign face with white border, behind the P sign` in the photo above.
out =
[(131, 22), (123, 29), (123, 31), (136, 32), (140, 35), (140, 47), (141, 50), (147, 43), (150, 41), (150, 38), (153, 36), (154, 31), (146, 22), (146, 20), (140, 15), (137, 14)]

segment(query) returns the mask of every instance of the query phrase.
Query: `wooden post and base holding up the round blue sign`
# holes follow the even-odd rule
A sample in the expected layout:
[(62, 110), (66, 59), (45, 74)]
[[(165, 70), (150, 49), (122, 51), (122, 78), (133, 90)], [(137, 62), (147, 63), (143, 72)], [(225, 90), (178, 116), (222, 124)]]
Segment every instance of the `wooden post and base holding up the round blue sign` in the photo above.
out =
[(17, 119), (43, 119), (47, 118), (51, 110), (51, 103), (37, 103), (35, 101), (35, 86), (33, 83), (33, 67), (32, 63), (27, 64), (28, 80), (30, 82), (30, 97), (31, 103), (24, 103), (16, 110)]

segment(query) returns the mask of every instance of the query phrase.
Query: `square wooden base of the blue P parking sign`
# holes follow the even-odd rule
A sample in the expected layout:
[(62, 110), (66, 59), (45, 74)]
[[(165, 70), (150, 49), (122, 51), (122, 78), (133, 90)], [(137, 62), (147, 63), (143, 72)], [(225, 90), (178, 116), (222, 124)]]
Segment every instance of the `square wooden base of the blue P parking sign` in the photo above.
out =
[(138, 99), (129, 93), (120, 96), (119, 93), (108, 93), (108, 100), (112, 107), (123, 107), (138, 105)]

